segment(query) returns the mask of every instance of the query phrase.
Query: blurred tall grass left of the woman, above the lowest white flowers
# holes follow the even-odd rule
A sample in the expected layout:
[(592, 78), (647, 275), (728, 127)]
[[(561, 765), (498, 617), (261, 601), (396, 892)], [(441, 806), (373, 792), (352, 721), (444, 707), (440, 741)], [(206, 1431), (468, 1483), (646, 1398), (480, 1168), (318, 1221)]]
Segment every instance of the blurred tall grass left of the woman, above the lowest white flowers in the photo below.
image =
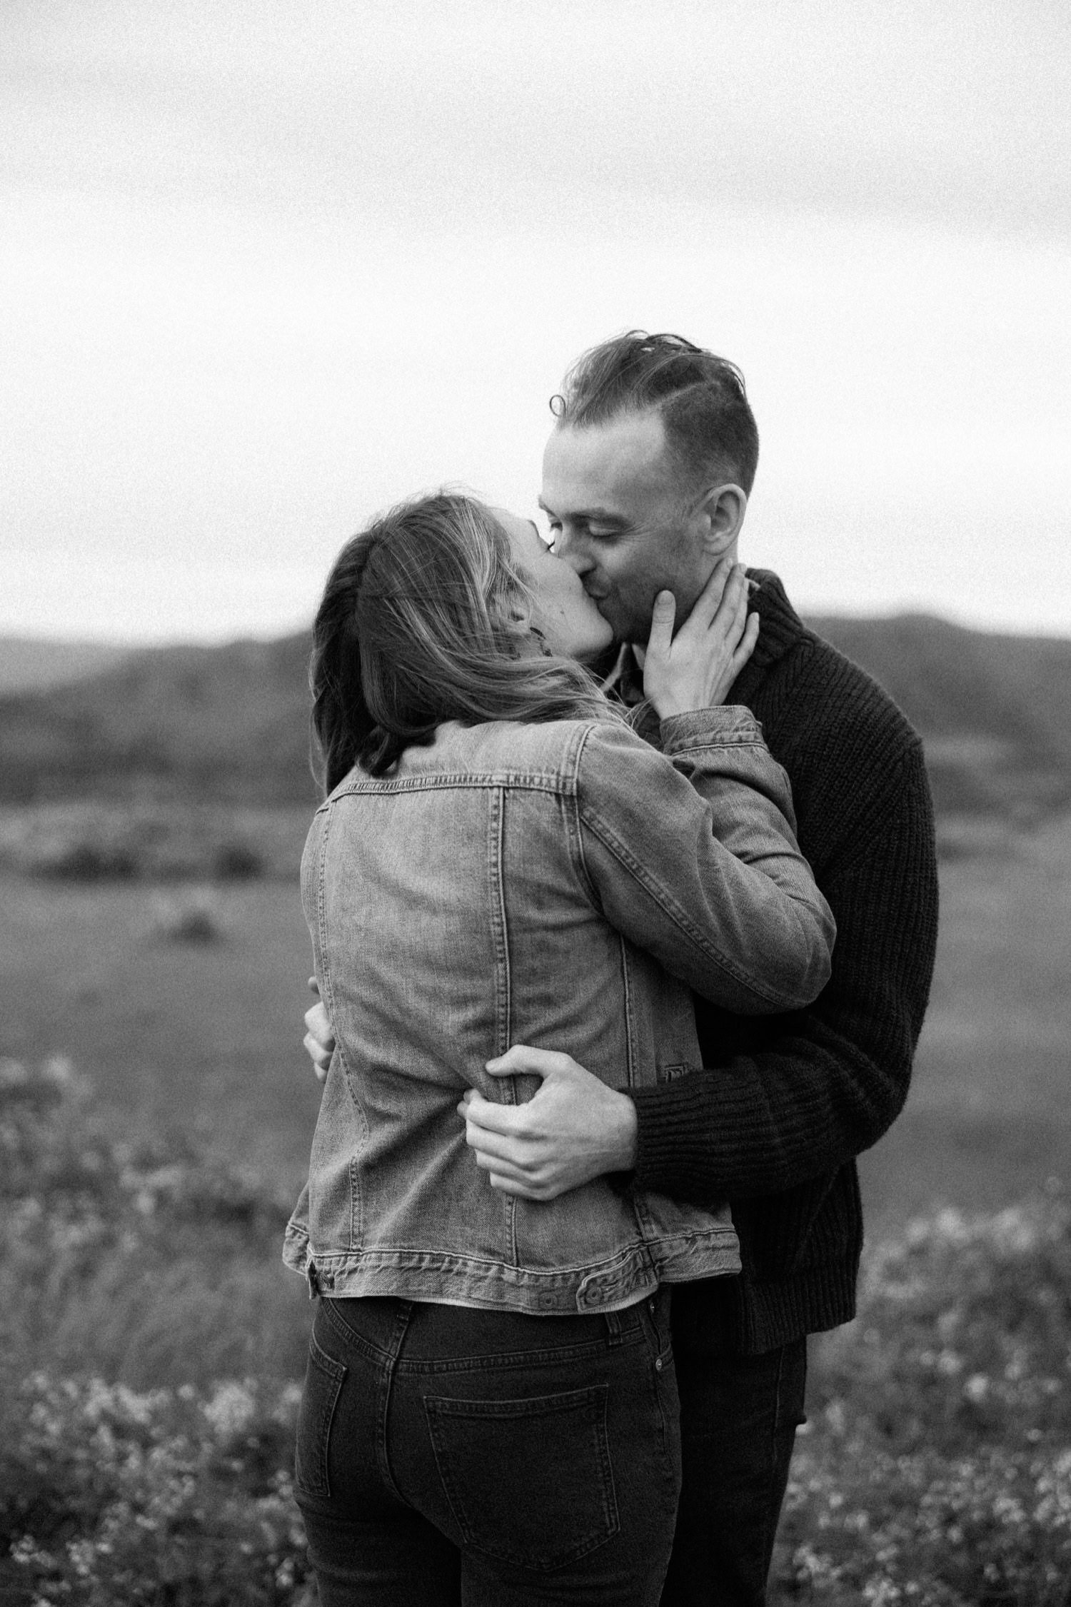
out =
[(293, 1377), (309, 1303), (280, 1263), (291, 1205), (188, 1141), (125, 1144), (64, 1061), (0, 1061), (0, 1353), (14, 1376), (135, 1388)]

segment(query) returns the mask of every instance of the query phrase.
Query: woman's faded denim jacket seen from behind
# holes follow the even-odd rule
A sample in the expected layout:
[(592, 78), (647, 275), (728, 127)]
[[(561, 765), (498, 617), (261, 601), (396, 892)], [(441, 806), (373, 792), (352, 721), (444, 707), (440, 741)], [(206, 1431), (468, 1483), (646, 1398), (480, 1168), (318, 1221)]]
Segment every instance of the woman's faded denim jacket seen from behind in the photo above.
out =
[(613, 718), (450, 723), (317, 812), (302, 905), (336, 1049), (285, 1249), (312, 1290), (611, 1311), (738, 1271), (727, 1207), (614, 1178), (503, 1196), (457, 1112), (466, 1088), (532, 1096), (484, 1069), (513, 1043), (627, 1090), (700, 1065), (691, 988), (749, 1014), (822, 990), (833, 919), (759, 726), (698, 710), (663, 742)]

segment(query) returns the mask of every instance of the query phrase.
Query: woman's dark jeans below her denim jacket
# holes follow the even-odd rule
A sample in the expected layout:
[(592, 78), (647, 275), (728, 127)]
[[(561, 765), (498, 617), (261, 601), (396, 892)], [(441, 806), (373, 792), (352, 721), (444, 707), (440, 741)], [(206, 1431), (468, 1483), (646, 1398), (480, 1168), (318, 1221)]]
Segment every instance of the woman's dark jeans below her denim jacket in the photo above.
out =
[(296, 1483), (323, 1607), (654, 1607), (680, 1491), (669, 1302), (320, 1300)]

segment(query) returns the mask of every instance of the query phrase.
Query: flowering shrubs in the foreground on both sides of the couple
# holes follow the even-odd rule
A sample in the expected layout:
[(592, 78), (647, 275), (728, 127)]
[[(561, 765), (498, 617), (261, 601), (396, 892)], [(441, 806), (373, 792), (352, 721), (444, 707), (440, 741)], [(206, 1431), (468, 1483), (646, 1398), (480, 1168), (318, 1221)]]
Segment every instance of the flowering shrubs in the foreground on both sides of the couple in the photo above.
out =
[[(64, 1061), (0, 1062), (0, 1602), (310, 1607), (288, 1204), (117, 1141)], [(870, 1252), (810, 1416), (780, 1607), (1068, 1607), (1063, 1196), (941, 1212)]]

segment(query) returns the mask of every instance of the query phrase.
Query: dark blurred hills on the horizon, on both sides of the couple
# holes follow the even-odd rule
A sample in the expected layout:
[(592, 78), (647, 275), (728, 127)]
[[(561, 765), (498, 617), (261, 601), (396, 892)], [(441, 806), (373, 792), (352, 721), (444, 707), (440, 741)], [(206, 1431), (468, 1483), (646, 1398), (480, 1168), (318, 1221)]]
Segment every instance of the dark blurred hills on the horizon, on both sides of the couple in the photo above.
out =
[[(921, 731), (946, 816), (1026, 824), (1071, 800), (1071, 640), (913, 614), (810, 624)], [(304, 633), (143, 649), (0, 696), (0, 802), (310, 802), (307, 651)]]

